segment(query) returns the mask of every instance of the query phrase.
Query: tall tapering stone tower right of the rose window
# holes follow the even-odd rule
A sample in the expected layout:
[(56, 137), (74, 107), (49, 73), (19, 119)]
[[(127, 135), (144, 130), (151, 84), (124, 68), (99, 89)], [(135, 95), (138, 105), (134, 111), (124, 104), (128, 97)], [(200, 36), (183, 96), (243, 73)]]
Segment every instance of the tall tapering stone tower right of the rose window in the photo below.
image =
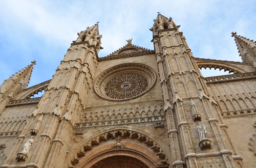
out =
[(225, 167), (236, 167), (234, 160), (242, 158), (228, 141), (228, 135), (222, 133), (226, 125), (217, 111), (218, 104), (211, 98), (179, 26), (171, 17), (158, 14), (151, 31), (167, 111), (173, 165), (182, 167), (185, 162), (186, 167), (198, 167), (199, 156), (203, 156), (223, 159)]

